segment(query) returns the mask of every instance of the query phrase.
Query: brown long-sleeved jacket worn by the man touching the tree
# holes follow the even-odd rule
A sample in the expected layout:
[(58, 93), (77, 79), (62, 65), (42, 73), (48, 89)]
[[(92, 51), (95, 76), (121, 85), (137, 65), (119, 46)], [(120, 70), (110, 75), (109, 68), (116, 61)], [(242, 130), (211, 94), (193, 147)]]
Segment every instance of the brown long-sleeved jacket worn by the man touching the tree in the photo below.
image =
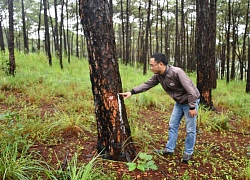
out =
[(154, 74), (147, 82), (134, 87), (131, 92), (132, 94), (144, 92), (159, 83), (177, 103), (188, 103), (191, 109), (195, 108), (200, 93), (186, 73), (178, 67), (167, 65), (163, 75)]

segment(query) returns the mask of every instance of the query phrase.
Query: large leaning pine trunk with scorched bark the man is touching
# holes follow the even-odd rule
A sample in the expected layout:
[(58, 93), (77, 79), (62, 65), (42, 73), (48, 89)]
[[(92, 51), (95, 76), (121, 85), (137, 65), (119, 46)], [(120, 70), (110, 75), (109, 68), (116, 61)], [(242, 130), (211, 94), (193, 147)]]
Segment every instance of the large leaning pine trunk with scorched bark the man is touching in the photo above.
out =
[(135, 156), (116, 58), (112, 3), (80, 0), (80, 16), (90, 64), (97, 121), (97, 150), (105, 158), (130, 160)]

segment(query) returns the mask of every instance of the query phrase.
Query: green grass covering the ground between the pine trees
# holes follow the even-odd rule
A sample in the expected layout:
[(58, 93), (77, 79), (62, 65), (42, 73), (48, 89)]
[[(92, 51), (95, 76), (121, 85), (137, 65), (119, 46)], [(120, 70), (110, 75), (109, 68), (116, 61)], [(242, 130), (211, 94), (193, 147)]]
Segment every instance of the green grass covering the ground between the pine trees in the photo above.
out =
[[(53, 66), (50, 67), (44, 54), (16, 53), (16, 76), (12, 77), (5, 74), (7, 60), (7, 54), (0, 54), (0, 178), (42, 179), (39, 176), (41, 173), (50, 179), (57, 179), (59, 175), (65, 179), (82, 179), (85, 173), (89, 179), (95, 176), (108, 178), (98, 168), (97, 157), (89, 164), (81, 164), (75, 155), (66, 173), (53, 169), (42, 159), (35, 160), (34, 154), (28, 152), (34, 141), (56, 145), (61, 141), (58, 134), (68, 127), (77, 126), (96, 134), (88, 62), (72, 57), (71, 64), (65, 60), (64, 69), (61, 70), (54, 57)], [(141, 69), (124, 65), (120, 65), (120, 74), (123, 91), (130, 91), (152, 76), (150, 71), (143, 76)], [(195, 74), (190, 76), (195, 79)], [(217, 89), (213, 90), (213, 103), (223, 111), (215, 113), (201, 106), (199, 127), (207, 133), (247, 133), (250, 128), (250, 95), (245, 93), (245, 82), (226, 84), (218, 80), (217, 83)], [(150, 107), (168, 112), (167, 119), (173, 104), (173, 100), (160, 85), (125, 101), (133, 140), (144, 152), (148, 151), (149, 144), (154, 141), (149, 133), (153, 127), (147, 122), (141, 127), (137, 121), (141, 116), (138, 112)], [(230, 123), (232, 120), (237, 123), (237, 129)], [(213, 148), (211, 145), (200, 153), (207, 157), (203, 160), (204, 164), (209, 161)], [(242, 172), (245, 177), (249, 177), (249, 162)], [(188, 171), (183, 179), (189, 179)]]

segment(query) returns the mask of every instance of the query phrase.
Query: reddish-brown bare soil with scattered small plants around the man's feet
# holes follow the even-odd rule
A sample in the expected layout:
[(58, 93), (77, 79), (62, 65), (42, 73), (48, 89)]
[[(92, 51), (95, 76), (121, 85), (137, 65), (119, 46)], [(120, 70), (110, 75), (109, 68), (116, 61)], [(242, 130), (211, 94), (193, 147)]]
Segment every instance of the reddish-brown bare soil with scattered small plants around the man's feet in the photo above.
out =
[[(46, 109), (45, 109), (46, 111)], [(155, 109), (143, 109), (140, 112), (141, 128), (145, 123), (149, 123), (151, 128), (148, 133), (152, 139), (149, 147), (162, 149), (167, 141), (168, 120), (166, 113)], [(235, 123), (232, 120), (229, 123)], [(185, 126), (182, 123), (179, 130), (179, 137), (174, 156), (161, 156), (152, 151), (147, 152), (153, 156), (158, 170), (129, 171), (125, 162), (101, 160), (99, 164), (105, 173), (112, 173), (116, 179), (245, 179), (243, 177), (246, 168), (247, 147), (249, 147), (249, 133), (239, 133), (237, 131), (203, 131), (199, 128), (197, 142), (193, 160), (188, 164), (181, 161), (183, 146), (185, 141)], [(50, 164), (60, 167), (67, 159), (70, 159), (76, 151), (80, 149), (79, 159), (88, 163), (96, 155), (97, 137), (94, 133), (84, 131), (79, 127), (71, 127), (65, 130), (61, 137), (63, 141), (57, 145), (47, 146), (35, 144), (32, 148), (39, 150), (45, 160)], [(137, 146), (137, 152), (142, 149)], [(130, 178), (129, 178), (130, 177)]]

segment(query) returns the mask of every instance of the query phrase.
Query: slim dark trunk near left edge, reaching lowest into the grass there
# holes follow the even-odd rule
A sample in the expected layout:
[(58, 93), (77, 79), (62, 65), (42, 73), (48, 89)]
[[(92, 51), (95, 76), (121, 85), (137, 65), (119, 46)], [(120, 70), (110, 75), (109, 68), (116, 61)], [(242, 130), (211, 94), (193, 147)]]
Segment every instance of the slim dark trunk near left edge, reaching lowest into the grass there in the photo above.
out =
[(14, 20), (13, 20), (13, 1), (8, 1), (9, 10), (9, 38), (8, 38), (8, 48), (9, 48), (9, 74), (15, 76), (16, 62), (15, 62), (15, 52), (14, 52)]

